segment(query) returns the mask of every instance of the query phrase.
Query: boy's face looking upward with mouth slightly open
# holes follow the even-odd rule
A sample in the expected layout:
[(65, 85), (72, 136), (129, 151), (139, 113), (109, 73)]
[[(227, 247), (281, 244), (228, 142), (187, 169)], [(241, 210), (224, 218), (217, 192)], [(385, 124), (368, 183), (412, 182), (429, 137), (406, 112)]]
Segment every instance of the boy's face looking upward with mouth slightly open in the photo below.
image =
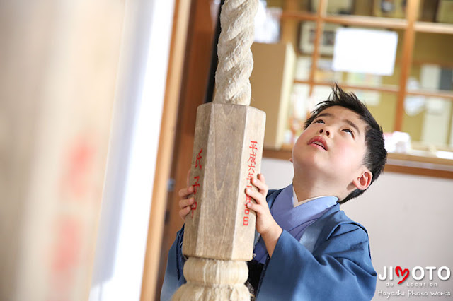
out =
[(321, 175), (333, 185), (350, 186), (353, 179), (369, 172), (363, 165), (366, 126), (357, 113), (345, 107), (323, 110), (294, 144), (294, 172), (300, 169), (313, 176)]

